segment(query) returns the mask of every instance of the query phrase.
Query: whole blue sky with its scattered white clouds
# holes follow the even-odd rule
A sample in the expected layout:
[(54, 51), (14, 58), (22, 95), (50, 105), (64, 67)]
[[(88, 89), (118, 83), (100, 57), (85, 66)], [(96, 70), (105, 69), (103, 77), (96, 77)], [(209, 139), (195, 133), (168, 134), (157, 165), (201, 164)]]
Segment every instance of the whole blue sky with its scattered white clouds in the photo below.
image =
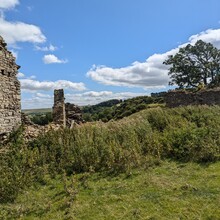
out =
[(220, 48), (219, 0), (0, 0), (21, 65), (22, 108), (94, 104), (168, 89), (162, 62), (198, 39)]

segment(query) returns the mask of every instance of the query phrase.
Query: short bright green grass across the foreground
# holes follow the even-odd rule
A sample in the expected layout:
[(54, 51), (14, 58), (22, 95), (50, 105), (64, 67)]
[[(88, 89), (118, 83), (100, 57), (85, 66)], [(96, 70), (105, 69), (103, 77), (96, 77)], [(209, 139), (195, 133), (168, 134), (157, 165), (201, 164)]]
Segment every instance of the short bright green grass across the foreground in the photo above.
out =
[(109, 176), (45, 179), (0, 205), (0, 219), (220, 219), (220, 162), (163, 161)]

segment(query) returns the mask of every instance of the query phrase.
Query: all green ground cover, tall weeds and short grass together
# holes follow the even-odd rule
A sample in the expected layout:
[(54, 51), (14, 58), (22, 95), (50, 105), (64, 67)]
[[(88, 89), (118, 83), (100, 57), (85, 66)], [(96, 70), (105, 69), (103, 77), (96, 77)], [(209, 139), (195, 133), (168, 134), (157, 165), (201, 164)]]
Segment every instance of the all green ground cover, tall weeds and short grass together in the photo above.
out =
[(220, 219), (219, 134), (219, 106), (149, 108), (29, 143), (21, 128), (0, 146), (0, 219)]

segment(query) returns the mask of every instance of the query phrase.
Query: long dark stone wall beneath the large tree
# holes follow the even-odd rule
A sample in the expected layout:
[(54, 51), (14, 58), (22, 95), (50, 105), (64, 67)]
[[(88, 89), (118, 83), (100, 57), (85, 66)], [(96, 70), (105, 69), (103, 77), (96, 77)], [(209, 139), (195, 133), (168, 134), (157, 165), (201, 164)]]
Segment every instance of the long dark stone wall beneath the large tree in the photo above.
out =
[(198, 92), (171, 91), (165, 96), (168, 107), (187, 105), (220, 105), (220, 88)]

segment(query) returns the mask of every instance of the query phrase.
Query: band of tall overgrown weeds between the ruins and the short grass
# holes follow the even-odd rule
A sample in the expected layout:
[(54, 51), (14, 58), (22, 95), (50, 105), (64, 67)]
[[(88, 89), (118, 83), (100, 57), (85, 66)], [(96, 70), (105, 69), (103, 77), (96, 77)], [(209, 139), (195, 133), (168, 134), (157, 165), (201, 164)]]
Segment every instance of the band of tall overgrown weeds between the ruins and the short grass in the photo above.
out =
[(79, 184), (87, 187), (88, 175), (97, 172), (129, 177), (134, 169), (147, 169), (167, 159), (218, 161), (220, 106), (151, 108), (119, 121), (51, 131), (28, 144), (21, 133), (14, 133), (10, 143), (0, 148), (1, 203), (13, 202), (25, 189), (34, 191), (62, 176), (67, 193), (64, 209), (69, 210), (78, 194), (78, 180), (69, 178), (76, 173), (82, 177)]

